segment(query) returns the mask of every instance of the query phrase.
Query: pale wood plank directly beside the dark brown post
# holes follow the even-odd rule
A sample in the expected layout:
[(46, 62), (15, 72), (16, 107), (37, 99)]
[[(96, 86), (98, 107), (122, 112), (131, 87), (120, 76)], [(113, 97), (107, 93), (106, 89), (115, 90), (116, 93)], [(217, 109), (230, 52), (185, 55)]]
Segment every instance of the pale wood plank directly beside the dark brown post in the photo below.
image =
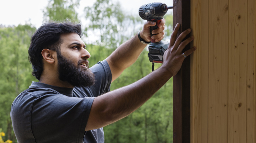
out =
[(191, 34), (197, 50), (191, 55), (190, 142), (208, 142), (208, 1), (191, 1)]

